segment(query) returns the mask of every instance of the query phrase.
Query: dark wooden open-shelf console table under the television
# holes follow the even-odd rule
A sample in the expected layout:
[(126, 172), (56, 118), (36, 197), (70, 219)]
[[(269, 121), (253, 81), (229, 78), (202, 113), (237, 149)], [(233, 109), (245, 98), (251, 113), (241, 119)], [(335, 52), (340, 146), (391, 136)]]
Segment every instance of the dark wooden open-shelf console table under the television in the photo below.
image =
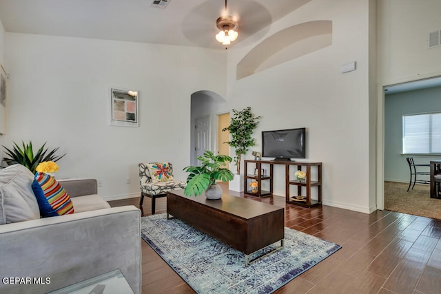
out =
[[(248, 164), (254, 163), (257, 173), (249, 174)], [(262, 174), (262, 165), (269, 165), (269, 174)], [(285, 165), (285, 202), (289, 204), (296, 204), (301, 207), (315, 207), (322, 204), (322, 162), (300, 162), (300, 161), (277, 161), (277, 160), (245, 160), (245, 176), (243, 182), (243, 191), (245, 194), (265, 197), (271, 196), (273, 193), (273, 174), (274, 165)], [(291, 180), (289, 178), (289, 167), (296, 166), (297, 170), (302, 170), (305, 167), (305, 172), (307, 174), (305, 182), (300, 182), (298, 180)], [(314, 180), (311, 178), (311, 167), (317, 169), (317, 176)], [(254, 169), (253, 169), (254, 171)], [(248, 187), (249, 180), (256, 180), (258, 182), (258, 191), (256, 193), (252, 192)], [(269, 191), (262, 190), (262, 181), (269, 181)], [(297, 198), (295, 196), (289, 196), (289, 187), (294, 185), (297, 187)], [(302, 187), (305, 187), (306, 195), (302, 197)], [(311, 199), (311, 187), (317, 187), (318, 195), (317, 200)]]

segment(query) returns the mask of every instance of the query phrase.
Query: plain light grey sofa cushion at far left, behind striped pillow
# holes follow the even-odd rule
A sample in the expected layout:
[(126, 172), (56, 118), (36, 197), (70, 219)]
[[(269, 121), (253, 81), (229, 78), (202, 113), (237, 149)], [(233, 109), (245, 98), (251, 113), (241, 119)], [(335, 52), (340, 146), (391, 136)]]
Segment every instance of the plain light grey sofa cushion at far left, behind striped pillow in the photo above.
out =
[(40, 218), (39, 204), (32, 192), (34, 175), (23, 165), (0, 170), (0, 224)]

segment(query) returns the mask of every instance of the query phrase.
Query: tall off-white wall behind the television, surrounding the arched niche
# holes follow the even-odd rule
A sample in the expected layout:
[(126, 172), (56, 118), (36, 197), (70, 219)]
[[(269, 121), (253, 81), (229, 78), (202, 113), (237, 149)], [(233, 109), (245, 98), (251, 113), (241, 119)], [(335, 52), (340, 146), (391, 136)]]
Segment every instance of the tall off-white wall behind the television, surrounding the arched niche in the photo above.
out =
[[(313, 20), (333, 22), (331, 46), (236, 81), (237, 63), (260, 41)], [(261, 131), (307, 127), (305, 161), (323, 163), (323, 203), (374, 210), (369, 187), (369, 1), (311, 1), (262, 34), (228, 50), (229, 106), (251, 106), (263, 116), (252, 150), (261, 149)], [(351, 61), (357, 70), (341, 74), (340, 65)], [(251, 152), (245, 158), (251, 159)], [(274, 191), (283, 195), (283, 167), (275, 167), (274, 177)]]

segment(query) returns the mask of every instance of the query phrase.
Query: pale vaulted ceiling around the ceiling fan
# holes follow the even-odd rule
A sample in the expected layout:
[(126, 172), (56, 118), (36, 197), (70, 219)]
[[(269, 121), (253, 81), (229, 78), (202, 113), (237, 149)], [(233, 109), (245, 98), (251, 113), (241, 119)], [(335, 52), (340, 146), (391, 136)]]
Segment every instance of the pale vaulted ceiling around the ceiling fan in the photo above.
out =
[[(309, 1), (229, 0), (228, 14), (239, 24), (232, 45)], [(225, 48), (214, 38), (224, 11), (224, 0), (0, 0), (6, 32), (215, 49)]]

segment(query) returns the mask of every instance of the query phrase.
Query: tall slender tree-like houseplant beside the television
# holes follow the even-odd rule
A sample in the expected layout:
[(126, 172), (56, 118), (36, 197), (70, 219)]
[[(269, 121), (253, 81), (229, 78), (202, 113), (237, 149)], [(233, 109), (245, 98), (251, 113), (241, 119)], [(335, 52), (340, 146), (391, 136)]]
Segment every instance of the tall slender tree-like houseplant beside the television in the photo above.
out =
[(255, 145), (252, 134), (258, 124), (261, 116), (254, 116), (251, 112), (251, 107), (246, 107), (240, 111), (233, 109), (233, 117), (230, 120), (229, 126), (222, 129), (229, 131), (232, 140), (228, 143), (229, 146), (234, 147), (236, 156), (234, 156), (234, 165), (236, 165), (236, 174), (240, 175), (240, 159), (245, 155), (249, 149)]

